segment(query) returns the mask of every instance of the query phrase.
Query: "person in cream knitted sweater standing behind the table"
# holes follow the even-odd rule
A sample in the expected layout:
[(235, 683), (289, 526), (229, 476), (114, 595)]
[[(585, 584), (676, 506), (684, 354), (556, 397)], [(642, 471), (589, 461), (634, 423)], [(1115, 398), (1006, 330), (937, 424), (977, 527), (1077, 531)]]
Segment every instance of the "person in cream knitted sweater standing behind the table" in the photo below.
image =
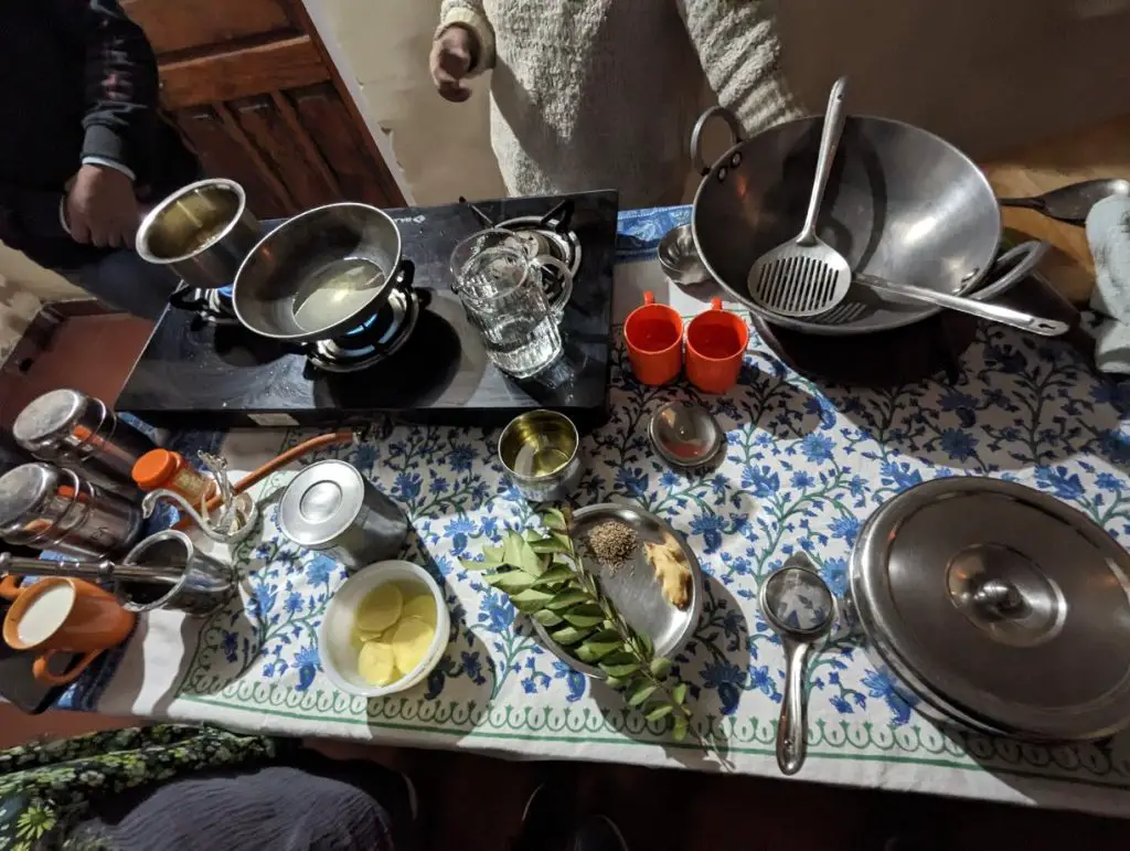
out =
[(615, 188), (678, 202), (705, 71), (748, 133), (796, 118), (771, 0), (444, 0), (440, 94), (493, 69), (490, 136), (511, 194)]

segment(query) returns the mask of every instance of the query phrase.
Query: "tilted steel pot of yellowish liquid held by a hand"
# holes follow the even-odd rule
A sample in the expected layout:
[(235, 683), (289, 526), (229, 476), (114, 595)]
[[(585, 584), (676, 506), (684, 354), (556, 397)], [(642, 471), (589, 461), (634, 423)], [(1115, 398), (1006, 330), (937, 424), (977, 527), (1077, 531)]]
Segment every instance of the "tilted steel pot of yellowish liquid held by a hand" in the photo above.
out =
[(235, 280), (260, 236), (243, 186), (215, 177), (182, 186), (154, 207), (138, 227), (137, 251), (191, 287), (216, 289)]

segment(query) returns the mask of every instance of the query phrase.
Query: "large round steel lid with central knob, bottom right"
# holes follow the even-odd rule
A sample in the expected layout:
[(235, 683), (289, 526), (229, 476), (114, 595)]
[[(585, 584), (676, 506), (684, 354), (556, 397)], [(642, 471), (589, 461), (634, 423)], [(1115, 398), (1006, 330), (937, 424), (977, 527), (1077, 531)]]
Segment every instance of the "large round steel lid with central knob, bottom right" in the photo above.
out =
[(870, 646), (936, 709), (983, 729), (1089, 739), (1130, 722), (1130, 556), (1038, 490), (913, 487), (852, 552)]

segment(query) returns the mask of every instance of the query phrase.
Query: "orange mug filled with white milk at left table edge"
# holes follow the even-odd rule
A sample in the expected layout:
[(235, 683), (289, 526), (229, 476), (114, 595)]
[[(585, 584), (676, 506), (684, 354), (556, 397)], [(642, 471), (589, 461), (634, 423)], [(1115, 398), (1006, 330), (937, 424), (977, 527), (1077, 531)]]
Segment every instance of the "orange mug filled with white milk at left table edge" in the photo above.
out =
[[(80, 579), (51, 576), (23, 589), (3, 619), (12, 650), (42, 651), (32, 665), (36, 679), (61, 686), (73, 680), (104, 650), (125, 641), (137, 616), (108, 591)], [(82, 653), (59, 676), (47, 668), (56, 652)]]

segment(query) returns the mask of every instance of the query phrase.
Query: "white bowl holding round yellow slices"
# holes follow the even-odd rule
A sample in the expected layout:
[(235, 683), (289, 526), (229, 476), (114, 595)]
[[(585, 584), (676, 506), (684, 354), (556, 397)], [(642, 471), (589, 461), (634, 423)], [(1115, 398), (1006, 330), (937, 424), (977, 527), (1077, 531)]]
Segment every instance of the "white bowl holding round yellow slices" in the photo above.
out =
[[(426, 588), (435, 599), (435, 635), (424, 660), (405, 671), (405, 676), (386, 686), (374, 686), (357, 672), (358, 651), (353, 645), (351, 633), (357, 607), (370, 591), (388, 582), (415, 583)], [(322, 670), (330, 681), (349, 694), (362, 697), (384, 697), (403, 692), (424, 680), (440, 662), (451, 634), (451, 615), (443, 591), (434, 579), (411, 562), (377, 562), (364, 567), (345, 581), (325, 607), (322, 625), (318, 627), (318, 654)]]

